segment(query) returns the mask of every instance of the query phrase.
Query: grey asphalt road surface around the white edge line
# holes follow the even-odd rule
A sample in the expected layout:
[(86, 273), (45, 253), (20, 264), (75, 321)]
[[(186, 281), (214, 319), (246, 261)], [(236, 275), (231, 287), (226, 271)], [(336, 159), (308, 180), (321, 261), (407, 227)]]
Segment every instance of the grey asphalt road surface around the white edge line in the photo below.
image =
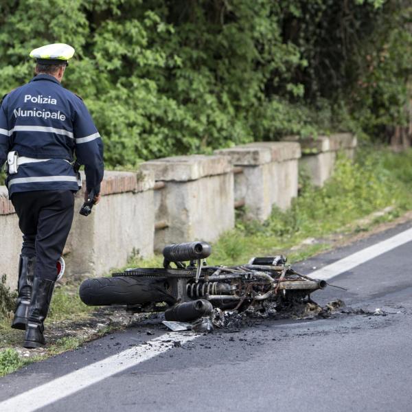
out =
[[(310, 273), (410, 227), (396, 227), (295, 268)], [(38, 410), (411, 411), (411, 251), (408, 242), (330, 280), (347, 292), (327, 288), (312, 296), (322, 305), (340, 298), (352, 308), (380, 308), (387, 316), (262, 321), (236, 333), (188, 337), (192, 340), (181, 346), (173, 342), (188, 335), (176, 334), (170, 349), (141, 363), (135, 356), (135, 365)], [(150, 352), (153, 340), (165, 333), (162, 325), (136, 325), (30, 365), (0, 379), (0, 402), (46, 382), (58, 384), (59, 376), (125, 350), (147, 347)], [(48, 391), (34, 391), (33, 399), (48, 396)], [(1, 403), (0, 411), (5, 411)]]

